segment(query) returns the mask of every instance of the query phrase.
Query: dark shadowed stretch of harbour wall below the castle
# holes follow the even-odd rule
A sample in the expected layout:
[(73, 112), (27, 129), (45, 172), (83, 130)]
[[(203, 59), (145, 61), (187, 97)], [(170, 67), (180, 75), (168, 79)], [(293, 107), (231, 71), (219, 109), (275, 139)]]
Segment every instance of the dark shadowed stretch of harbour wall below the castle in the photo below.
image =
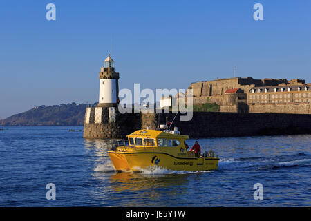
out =
[[(162, 114), (160, 124), (165, 123), (165, 117), (171, 121), (174, 116)], [(194, 112), (189, 122), (180, 122), (178, 114), (174, 126), (191, 138), (311, 134), (311, 115)]]

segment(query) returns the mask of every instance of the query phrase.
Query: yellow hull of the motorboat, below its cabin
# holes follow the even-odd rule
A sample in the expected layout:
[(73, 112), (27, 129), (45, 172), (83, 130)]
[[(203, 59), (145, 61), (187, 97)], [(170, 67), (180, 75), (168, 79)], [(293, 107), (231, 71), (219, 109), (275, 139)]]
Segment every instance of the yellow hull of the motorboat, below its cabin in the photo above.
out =
[(156, 152), (114, 152), (109, 157), (117, 171), (141, 171), (149, 166), (160, 166), (173, 171), (210, 171), (218, 169), (217, 157), (176, 157), (169, 153)]

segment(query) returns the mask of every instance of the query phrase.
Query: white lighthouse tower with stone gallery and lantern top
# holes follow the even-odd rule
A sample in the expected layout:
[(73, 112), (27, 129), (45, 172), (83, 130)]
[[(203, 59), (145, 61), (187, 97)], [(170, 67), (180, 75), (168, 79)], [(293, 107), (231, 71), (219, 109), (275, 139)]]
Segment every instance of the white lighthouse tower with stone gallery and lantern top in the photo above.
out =
[(119, 102), (119, 73), (115, 72), (115, 61), (109, 54), (100, 68), (100, 97), (98, 107), (116, 107)]

